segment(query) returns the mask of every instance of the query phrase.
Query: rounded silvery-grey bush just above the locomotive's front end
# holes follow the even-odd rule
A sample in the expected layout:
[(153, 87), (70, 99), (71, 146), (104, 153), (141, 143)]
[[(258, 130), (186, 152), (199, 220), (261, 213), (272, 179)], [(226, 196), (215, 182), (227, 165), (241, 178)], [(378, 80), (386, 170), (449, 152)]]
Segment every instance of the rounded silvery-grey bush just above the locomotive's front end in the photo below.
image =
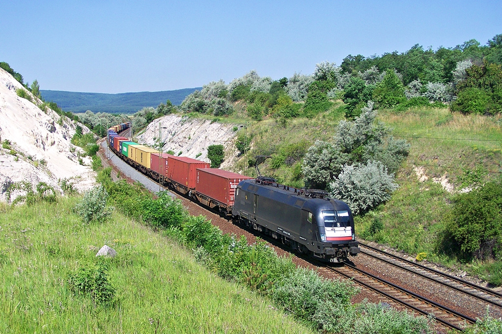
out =
[(333, 195), (348, 204), (354, 214), (362, 213), (391, 198), (398, 188), (394, 176), (380, 162), (345, 165), (331, 184)]

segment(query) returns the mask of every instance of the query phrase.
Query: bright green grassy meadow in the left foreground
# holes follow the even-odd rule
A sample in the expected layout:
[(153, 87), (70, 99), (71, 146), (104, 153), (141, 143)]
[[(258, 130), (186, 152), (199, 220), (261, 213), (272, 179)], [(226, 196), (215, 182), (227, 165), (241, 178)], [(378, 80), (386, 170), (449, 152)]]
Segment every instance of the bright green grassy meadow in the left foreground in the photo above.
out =
[[(0, 207), (0, 332), (309, 332), (141, 224), (118, 214), (82, 224), (76, 201)], [(111, 307), (96, 307), (67, 284), (103, 244), (117, 250)]]

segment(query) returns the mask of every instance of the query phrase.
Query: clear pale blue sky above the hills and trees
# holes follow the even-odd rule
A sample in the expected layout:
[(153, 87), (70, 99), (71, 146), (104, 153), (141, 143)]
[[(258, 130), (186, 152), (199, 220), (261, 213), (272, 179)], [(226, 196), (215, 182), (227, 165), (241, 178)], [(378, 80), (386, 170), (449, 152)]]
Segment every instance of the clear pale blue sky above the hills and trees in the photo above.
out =
[(498, 1), (7, 1), (0, 61), (41, 89), (124, 93), (272, 79), (347, 55), (502, 34)]

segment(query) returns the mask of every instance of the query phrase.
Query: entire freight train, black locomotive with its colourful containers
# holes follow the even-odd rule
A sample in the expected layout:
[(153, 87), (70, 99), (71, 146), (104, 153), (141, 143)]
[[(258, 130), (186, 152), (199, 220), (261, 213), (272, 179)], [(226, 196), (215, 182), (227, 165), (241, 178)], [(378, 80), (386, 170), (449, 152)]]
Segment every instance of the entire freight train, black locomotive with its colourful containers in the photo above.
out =
[(359, 253), (350, 208), (328, 193), (161, 153), (118, 135), (130, 127), (131, 122), (108, 129), (109, 149), (163, 186), (321, 261), (343, 262)]

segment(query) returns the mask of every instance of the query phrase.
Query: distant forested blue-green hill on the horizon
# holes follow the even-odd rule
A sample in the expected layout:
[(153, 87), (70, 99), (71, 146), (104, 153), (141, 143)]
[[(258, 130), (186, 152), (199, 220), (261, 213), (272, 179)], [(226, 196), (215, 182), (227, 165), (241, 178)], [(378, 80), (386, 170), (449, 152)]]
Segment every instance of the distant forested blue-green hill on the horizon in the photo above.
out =
[(65, 91), (41, 90), (45, 101), (56, 102), (64, 111), (83, 113), (90, 110), (94, 113), (105, 112), (112, 114), (131, 114), (144, 107), (157, 107), (160, 103), (171, 100), (172, 104), (179, 105), (185, 97), (198, 88), (185, 88), (175, 91), (138, 92), (138, 93), (80, 93)]

